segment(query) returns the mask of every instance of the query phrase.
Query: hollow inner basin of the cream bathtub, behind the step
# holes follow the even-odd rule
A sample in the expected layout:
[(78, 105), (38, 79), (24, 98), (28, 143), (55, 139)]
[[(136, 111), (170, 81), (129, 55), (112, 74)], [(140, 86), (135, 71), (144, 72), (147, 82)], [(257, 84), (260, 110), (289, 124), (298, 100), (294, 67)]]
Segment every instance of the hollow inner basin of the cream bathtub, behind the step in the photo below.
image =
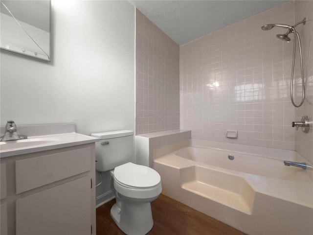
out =
[[(179, 157), (195, 161), (197, 163), (217, 166), (233, 171), (255, 174), (275, 179), (313, 182), (312, 170), (304, 170), (299, 167), (287, 167), (284, 165), (284, 155), (258, 156), (255, 154), (247, 154), (231, 150), (214, 149), (209, 147), (188, 146), (175, 152)], [(229, 160), (228, 155), (232, 154), (234, 160)], [(278, 154), (278, 153), (276, 153)], [(296, 156), (292, 161), (303, 161), (300, 156)]]

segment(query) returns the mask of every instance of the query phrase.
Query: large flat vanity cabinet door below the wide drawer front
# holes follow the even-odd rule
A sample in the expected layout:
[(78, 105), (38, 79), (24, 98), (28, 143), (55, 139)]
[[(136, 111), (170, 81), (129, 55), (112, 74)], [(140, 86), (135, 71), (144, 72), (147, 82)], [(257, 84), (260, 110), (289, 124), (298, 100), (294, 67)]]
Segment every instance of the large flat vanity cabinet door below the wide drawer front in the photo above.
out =
[(91, 234), (90, 176), (16, 201), (17, 235)]

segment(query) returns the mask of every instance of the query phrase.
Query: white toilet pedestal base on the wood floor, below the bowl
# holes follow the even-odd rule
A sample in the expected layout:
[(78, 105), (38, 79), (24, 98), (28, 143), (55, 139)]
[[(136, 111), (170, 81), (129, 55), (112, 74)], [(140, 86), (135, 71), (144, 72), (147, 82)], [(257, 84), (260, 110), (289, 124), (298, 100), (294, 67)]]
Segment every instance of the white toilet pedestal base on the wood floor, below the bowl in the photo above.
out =
[(127, 235), (145, 235), (153, 227), (150, 202), (122, 201), (111, 208), (111, 217)]

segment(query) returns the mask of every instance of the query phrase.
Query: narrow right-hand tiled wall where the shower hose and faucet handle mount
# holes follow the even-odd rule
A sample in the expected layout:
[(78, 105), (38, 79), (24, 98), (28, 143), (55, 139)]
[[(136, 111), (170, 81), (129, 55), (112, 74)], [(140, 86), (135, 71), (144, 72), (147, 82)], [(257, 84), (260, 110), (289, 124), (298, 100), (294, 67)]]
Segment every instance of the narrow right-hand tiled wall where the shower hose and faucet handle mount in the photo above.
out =
[[(309, 116), (311, 128), (309, 133), (296, 131), (295, 149), (298, 153), (304, 156), (311, 164), (313, 164), (313, 1), (295, 1), (295, 22), (307, 19), (305, 25), (298, 25), (298, 31), (302, 44), (303, 53), (303, 69), (304, 77), (306, 78), (306, 100), (303, 105), (296, 108), (295, 120), (299, 121), (302, 116)], [(299, 53), (299, 51), (296, 51)], [(298, 55), (298, 54), (296, 54)], [(296, 103), (299, 104), (301, 99), (301, 72), (299, 61), (296, 63), (295, 79), (296, 79)], [(299, 94), (298, 94), (299, 93)]]

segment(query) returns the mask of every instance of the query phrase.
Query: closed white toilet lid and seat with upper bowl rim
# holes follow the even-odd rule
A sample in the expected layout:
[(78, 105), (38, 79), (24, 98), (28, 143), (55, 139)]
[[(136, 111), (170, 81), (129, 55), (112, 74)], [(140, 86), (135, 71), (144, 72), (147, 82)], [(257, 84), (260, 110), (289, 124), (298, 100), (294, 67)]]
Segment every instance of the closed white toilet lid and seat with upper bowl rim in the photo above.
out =
[(137, 199), (156, 197), (161, 193), (161, 177), (156, 170), (134, 163), (115, 167), (114, 188), (120, 194)]

